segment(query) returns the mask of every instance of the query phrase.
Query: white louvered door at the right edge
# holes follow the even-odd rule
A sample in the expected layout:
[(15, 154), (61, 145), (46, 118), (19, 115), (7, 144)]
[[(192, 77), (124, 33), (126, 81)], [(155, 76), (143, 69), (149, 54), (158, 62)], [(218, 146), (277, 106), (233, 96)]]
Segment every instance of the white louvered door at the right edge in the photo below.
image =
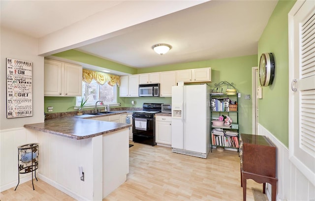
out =
[[(315, 1), (307, 0), (293, 17), (289, 33), (290, 156), (315, 183)], [(289, 30), (290, 31), (290, 30)], [(290, 37), (292, 36), (292, 37)], [(293, 74), (291, 73), (293, 72)], [(310, 177), (311, 176), (311, 177)]]

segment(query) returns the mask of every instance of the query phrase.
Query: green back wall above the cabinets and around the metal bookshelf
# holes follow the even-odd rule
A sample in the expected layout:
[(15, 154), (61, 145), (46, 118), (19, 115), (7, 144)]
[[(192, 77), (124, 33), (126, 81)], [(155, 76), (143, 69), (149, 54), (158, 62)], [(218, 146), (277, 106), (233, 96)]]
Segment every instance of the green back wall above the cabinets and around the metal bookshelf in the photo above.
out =
[[(234, 86), (241, 93), (241, 98), (239, 98), (240, 132), (251, 134), (252, 133), (252, 67), (256, 67), (256, 66), (257, 66), (257, 55), (251, 55), (251, 56), (244, 56), (244, 57), (212, 59), (212, 60), (196, 61), (196, 62), (189, 62), (189, 63), (155, 66), (155, 67), (150, 67), (150, 68), (140, 68), (138, 69), (138, 73), (150, 73), (150, 72), (159, 72), (159, 71), (211, 67), (212, 82), (208, 84), (212, 88), (215, 87), (215, 84), (219, 83), (220, 81), (227, 81), (229, 83), (234, 83)], [(200, 84), (200, 83), (195, 83), (195, 84)], [(250, 94), (251, 99), (245, 100), (244, 99), (245, 94)], [(139, 99), (143, 100), (142, 98), (139, 98)], [(136, 101), (136, 99), (125, 98), (126, 103), (127, 102), (131, 103), (131, 100)], [(154, 98), (154, 100), (160, 101), (158, 98)], [(170, 99), (170, 102), (171, 102), (171, 99)], [(143, 101), (141, 101), (140, 103), (142, 104)], [(137, 105), (137, 107), (141, 107), (141, 105)]]

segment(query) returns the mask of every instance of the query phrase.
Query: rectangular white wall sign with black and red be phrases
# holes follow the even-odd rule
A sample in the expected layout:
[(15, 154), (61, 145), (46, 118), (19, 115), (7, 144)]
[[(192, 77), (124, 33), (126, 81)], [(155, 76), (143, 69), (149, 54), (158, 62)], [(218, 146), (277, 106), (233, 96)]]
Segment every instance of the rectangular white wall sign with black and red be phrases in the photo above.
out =
[(32, 116), (32, 62), (6, 58), (6, 118)]

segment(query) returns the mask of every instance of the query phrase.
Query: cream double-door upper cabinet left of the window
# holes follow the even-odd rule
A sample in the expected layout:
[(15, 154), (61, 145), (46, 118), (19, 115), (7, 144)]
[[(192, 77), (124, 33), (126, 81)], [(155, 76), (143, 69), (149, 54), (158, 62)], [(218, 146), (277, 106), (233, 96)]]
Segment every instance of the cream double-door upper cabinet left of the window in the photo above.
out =
[(45, 59), (44, 95), (82, 96), (82, 66)]

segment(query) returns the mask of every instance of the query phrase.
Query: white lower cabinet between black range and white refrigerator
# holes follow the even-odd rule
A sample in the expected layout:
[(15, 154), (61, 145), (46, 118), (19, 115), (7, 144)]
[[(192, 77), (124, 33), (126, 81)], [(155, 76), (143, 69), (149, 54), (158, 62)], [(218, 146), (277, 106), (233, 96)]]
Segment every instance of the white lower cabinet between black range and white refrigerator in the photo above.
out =
[(156, 143), (171, 146), (172, 144), (172, 117), (156, 116)]

